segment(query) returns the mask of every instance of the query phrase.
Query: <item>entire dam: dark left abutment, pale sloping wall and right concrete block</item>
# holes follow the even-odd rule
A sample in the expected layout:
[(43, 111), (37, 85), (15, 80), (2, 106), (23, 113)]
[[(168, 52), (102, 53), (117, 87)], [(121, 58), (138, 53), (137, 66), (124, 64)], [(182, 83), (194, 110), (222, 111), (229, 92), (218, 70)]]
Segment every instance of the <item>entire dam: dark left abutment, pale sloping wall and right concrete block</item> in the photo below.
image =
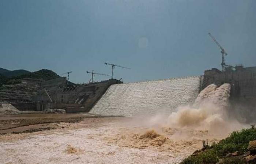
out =
[(241, 111), (241, 115), (254, 116), (248, 113), (255, 111), (256, 107), (256, 67), (240, 65), (225, 71), (217, 68), (205, 70), (202, 76), (132, 83), (108, 79), (68, 84), (65, 77), (48, 81), (23, 79), (22, 83), (4, 86), (0, 90), (0, 102), (9, 102), (22, 111), (64, 109), (67, 113), (89, 112), (127, 117), (169, 114), (176, 112), (180, 105), (193, 103), (208, 85), (221, 86), (223, 83), (231, 85), (232, 108)]

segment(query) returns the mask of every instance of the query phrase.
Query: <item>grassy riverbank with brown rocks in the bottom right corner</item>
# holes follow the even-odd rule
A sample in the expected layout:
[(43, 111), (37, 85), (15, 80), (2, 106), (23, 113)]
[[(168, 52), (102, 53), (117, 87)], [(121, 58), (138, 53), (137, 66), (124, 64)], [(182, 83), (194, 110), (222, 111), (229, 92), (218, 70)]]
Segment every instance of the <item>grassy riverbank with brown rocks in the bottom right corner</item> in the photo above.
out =
[(180, 164), (255, 164), (256, 163), (256, 129), (232, 132), (227, 138), (195, 151)]

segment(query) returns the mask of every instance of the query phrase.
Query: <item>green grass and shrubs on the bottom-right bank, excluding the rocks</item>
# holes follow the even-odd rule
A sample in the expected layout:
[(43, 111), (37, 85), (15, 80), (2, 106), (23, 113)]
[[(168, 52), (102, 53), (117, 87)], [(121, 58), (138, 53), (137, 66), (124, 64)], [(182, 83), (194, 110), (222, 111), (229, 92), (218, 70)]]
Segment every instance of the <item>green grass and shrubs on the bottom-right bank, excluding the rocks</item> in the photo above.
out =
[[(227, 155), (227, 153), (241, 152), (247, 150), (249, 141), (256, 140), (256, 129), (242, 129), (240, 132), (233, 132), (218, 144), (212, 144), (210, 147), (204, 143), (205, 151), (196, 155), (191, 155), (184, 159), (181, 164), (215, 164)], [(207, 148), (208, 147), (208, 148)], [(237, 157), (225, 158), (223, 164), (244, 164), (243, 159)]]

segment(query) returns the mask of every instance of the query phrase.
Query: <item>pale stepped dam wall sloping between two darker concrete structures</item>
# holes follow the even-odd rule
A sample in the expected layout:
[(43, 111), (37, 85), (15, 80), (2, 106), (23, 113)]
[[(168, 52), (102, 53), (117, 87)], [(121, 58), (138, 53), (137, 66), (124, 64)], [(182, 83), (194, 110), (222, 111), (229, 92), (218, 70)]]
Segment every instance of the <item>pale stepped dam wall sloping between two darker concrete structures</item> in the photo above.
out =
[(202, 76), (111, 85), (90, 113), (128, 116), (170, 114), (180, 105), (193, 103)]

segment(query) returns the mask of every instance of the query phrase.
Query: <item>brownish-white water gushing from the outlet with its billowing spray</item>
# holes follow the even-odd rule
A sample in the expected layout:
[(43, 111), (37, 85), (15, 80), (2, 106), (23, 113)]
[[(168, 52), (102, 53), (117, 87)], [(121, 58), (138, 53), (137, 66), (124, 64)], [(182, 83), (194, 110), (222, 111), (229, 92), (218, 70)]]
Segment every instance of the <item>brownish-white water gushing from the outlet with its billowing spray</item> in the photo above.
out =
[(178, 128), (209, 130), (210, 133), (226, 135), (242, 125), (227, 117), (229, 107), (230, 84), (220, 87), (212, 84), (200, 92), (193, 105), (180, 106), (177, 112), (170, 114), (168, 125)]

